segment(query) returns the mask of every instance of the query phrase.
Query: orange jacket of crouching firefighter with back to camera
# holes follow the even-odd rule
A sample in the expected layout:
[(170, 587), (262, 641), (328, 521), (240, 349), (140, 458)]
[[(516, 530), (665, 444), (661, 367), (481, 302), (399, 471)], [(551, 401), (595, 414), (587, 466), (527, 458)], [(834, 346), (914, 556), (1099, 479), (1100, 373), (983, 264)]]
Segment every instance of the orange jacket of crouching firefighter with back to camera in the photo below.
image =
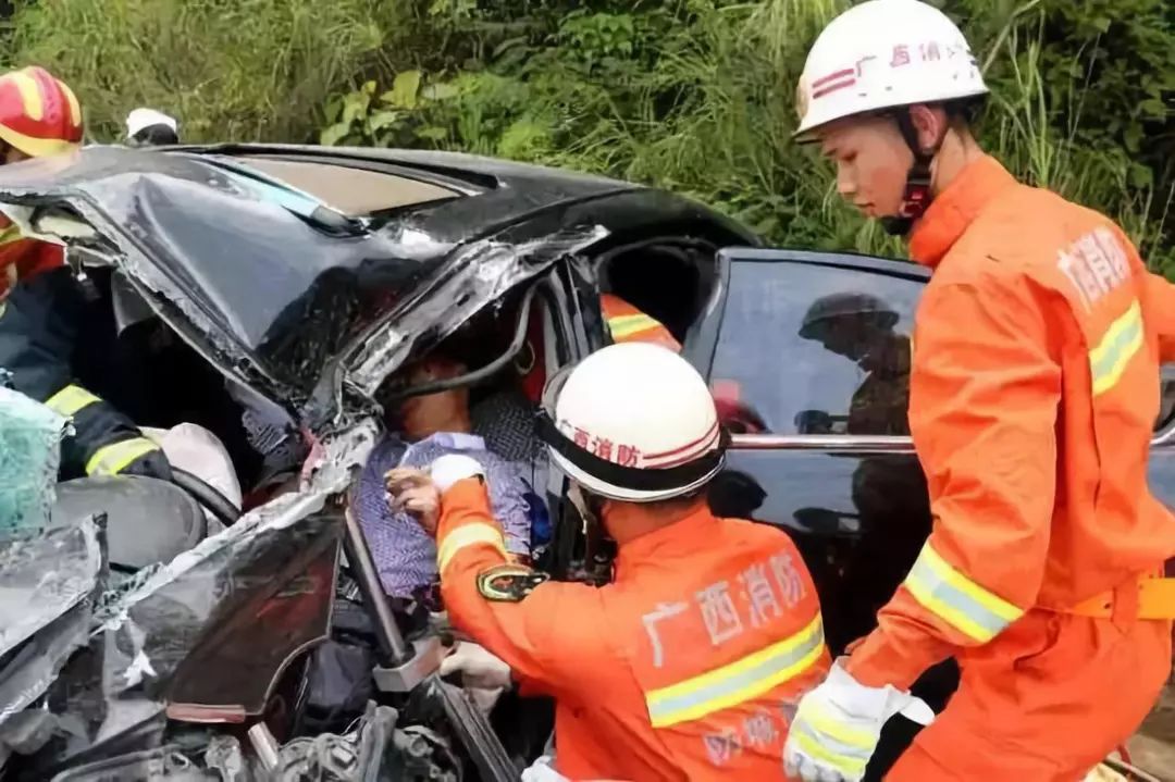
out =
[[(820, 607), (778, 530), (709, 511), (620, 546), (612, 584), (491, 599), (506, 565), (478, 479), (442, 498), (437, 564), (455, 627), (556, 699), (572, 780), (779, 780), (794, 705), (827, 673)], [(505, 569), (502, 569), (505, 568)]]

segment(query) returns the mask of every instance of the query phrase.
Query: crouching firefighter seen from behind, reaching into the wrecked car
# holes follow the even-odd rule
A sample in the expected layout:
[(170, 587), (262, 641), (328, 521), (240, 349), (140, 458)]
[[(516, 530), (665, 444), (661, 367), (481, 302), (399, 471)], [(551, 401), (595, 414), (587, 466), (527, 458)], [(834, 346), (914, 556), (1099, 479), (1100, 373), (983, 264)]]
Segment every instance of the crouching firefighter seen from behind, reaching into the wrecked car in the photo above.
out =
[(726, 434), (705, 382), (646, 343), (606, 346), (563, 377), (540, 427), (576, 504), (617, 542), (613, 581), (509, 564), (481, 467), (445, 456), (431, 484), (390, 488), (425, 527), (439, 504), (454, 626), (523, 694), (556, 699), (563, 776), (783, 778), (791, 714), (828, 670), (820, 606), (786, 534), (709, 511)]

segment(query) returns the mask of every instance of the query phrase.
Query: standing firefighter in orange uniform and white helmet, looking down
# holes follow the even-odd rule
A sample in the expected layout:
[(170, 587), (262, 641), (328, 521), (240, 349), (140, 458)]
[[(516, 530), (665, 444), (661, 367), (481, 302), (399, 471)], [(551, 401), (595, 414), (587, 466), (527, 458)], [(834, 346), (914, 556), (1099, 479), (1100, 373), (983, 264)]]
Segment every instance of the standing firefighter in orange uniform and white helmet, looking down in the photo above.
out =
[(983, 154), (985, 93), (962, 33), (916, 0), (845, 12), (800, 81), (799, 137), (933, 270), (909, 424), (934, 526), (878, 628), (801, 701), (785, 759), (805, 780), (860, 778), (946, 658), (959, 690), (887, 780), (1077, 780), (1170, 673), (1175, 519), (1147, 459), (1175, 289), (1110, 220)]

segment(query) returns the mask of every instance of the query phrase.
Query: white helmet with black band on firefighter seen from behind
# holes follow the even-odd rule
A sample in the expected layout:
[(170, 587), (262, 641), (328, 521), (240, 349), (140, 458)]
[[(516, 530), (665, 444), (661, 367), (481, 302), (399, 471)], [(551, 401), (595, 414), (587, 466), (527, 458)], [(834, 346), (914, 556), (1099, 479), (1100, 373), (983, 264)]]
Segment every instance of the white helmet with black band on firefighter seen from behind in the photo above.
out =
[(588, 491), (652, 503), (689, 494), (721, 470), (726, 436), (706, 382), (651, 343), (609, 345), (580, 362), (548, 402), (540, 433), (551, 458)]

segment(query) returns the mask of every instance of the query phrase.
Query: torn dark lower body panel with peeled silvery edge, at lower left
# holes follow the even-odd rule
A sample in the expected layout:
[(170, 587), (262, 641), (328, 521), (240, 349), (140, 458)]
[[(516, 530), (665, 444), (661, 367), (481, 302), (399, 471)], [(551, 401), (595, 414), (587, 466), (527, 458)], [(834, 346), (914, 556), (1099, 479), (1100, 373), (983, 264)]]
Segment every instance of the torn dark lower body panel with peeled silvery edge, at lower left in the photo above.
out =
[(108, 593), (88, 648), (49, 689), (63, 729), (21, 778), (159, 747), (168, 717), (260, 713), (290, 661), (329, 633), (342, 531), (331, 498), (376, 434), (361, 422), (325, 440), (301, 491)]

